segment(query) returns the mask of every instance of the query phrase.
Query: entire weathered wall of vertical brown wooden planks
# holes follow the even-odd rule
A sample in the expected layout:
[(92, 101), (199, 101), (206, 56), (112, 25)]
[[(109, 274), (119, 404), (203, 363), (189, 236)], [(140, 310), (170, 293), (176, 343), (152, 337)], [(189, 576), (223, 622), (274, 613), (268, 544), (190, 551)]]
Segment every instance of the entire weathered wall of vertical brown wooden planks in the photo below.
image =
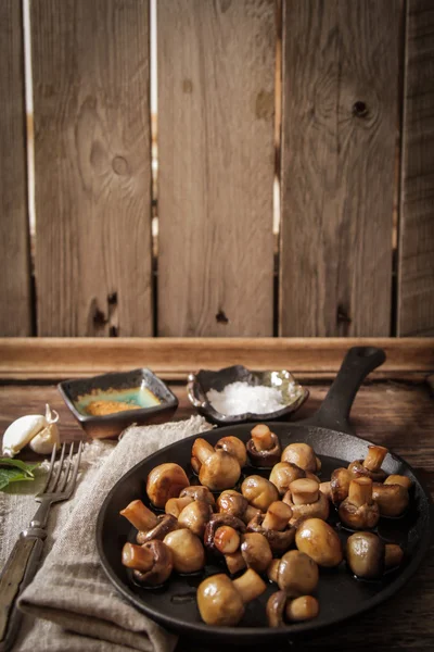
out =
[(432, 0), (158, 0), (155, 285), (150, 0), (30, 18), (36, 306), (22, 2), (0, 3), (0, 336), (434, 334)]

